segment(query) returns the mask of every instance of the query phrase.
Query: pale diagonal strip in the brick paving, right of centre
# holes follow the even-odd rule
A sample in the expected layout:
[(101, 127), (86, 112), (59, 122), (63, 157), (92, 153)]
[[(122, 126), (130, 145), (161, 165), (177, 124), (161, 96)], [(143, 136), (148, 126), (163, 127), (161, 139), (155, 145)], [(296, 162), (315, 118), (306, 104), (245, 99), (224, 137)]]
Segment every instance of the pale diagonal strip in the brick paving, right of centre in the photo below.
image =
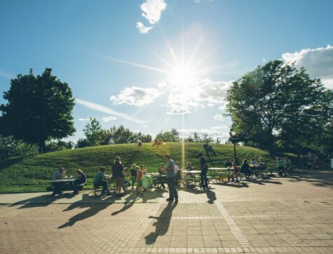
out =
[(247, 240), (245, 234), (240, 230), (236, 222), (233, 220), (231, 215), (229, 215), (229, 212), (224, 208), (221, 202), (216, 202), (215, 205), (217, 206), (217, 209), (219, 209), (219, 212), (224, 217), (224, 220), (226, 221), (226, 224), (230, 227), (231, 232), (236, 237), (236, 240), (238, 241), (239, 245), (241, 247), (252, 247), (250, 241)]

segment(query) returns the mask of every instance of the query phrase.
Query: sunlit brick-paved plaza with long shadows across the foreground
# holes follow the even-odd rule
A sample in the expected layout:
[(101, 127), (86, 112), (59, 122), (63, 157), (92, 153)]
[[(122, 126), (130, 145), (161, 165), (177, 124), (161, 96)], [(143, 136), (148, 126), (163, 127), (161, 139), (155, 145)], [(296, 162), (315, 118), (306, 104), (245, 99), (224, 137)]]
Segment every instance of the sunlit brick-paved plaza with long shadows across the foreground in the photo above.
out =
[(0, 253), (333, 253), (333, 172), (139, 197), (0, 195)]

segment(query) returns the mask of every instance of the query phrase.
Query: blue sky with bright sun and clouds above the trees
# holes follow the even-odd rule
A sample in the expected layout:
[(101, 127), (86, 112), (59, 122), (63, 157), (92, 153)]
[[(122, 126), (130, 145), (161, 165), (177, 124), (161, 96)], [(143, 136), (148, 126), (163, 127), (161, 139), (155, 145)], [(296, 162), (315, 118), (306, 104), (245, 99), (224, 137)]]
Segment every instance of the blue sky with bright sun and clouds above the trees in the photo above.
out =
[(268, 60), (333, 88), (332, 16), (333, 1), (320, 0), (1, 1), (0, 93), (51, 67), (77, 98), (69, 140), (90, 117), (224, 140), (231, 81)]

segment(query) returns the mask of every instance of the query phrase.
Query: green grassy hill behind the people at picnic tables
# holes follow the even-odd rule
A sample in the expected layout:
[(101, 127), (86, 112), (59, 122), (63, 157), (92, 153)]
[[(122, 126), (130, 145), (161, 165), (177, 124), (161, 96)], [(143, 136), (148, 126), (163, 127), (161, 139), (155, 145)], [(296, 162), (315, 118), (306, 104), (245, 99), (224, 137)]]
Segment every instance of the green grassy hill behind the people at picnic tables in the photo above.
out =
[[(226, 157), (233, 158), (233, 145), (213, 145), (215, 155), (204, 153), (209, 166), (224, 166)], [(181, 165), (191, 161), (194, 168), (198, 168), (198, 152), (203, 151), (201, 143), (185, 143), (184, 159), (182, 159), (182, 143), (167, 142), (159, 147), (152, 147), (151, 143), (143, 144), (141, 151), (135, 151), (132, 144), (105, 145), (81, 149), (65, 150), (48, 154), (39, 154), (24, 158), (11, 158), (0, 161), (0, 193), (4, 192), (43, 192), (50, 186), (53, 172), (60, 166), (67, 168), (67, 175), (75, 175), (76, 168), (81, 168), (88, 178), (88, 188), (92, 187), (93, 177), (101, 166), (107, 167), (111, 173), (111, 165), (115, 156), (121, 156), (124, 166), (132, 163), (144, 164), (148, 172), (156, 171), (158, 164), (165, 162), (163, 154), (168, 153)], [(253, 147), (236, 147), (240, 159), (262, 157), (267, 163), (273, 164), (268, 152)]]

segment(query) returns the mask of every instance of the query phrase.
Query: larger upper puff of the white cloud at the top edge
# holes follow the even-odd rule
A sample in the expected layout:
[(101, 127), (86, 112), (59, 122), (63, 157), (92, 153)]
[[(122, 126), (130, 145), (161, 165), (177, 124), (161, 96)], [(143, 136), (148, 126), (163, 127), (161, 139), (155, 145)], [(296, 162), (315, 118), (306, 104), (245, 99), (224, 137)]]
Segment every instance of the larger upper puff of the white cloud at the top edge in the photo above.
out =
[(162, 11), (165, 10), (167, 4), (164, 0), (146, 0), (141, 5), (142, 16), (154, 25), (160, 20)]

